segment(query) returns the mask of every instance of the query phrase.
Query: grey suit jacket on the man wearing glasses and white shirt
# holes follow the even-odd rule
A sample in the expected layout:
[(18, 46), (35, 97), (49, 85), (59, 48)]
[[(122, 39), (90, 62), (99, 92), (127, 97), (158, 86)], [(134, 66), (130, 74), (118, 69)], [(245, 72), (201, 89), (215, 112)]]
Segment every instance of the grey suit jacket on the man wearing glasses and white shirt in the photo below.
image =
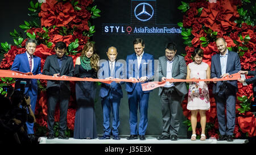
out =
[[(167, 57), (159, 57), (159, 81), (162, 81), (162, 77), (167, 76)], [(175, 55), (174, 62), (172, 62), (172, 78), (186, 79), (187, 77), (187, 65), (183, 56)], [(188, 93), (187, 85), (185, 82), (174, 82), (174, 86), (177, 93), (184, 96)], [(159, 87), (159, 94), (161, 95), (163, 87)]]

